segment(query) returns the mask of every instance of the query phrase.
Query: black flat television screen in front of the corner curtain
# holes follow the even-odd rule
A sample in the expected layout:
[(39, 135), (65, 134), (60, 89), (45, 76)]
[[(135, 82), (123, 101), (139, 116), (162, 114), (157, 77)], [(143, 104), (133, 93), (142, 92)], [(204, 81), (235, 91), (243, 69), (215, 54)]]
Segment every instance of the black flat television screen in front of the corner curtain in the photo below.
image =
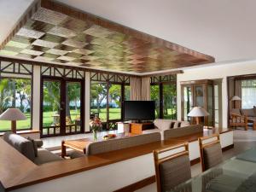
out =
[(125, 101), (125, 120), (154, 120), (154, 101)]

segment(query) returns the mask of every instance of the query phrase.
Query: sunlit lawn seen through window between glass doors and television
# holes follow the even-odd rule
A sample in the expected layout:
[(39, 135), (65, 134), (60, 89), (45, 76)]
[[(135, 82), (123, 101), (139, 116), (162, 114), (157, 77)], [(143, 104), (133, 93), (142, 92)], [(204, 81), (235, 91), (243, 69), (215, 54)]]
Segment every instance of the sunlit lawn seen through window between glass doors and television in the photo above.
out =
[[(90, 113), (97, 113), (98, 110), (96, 108), (91, 108)], [(107, 120), (107, 108), (101, 108), (101, 112), (99, 113), (99, 118), (102, 121)], [(121, 119), (121, 108), (109, 108), (109, 119)]]

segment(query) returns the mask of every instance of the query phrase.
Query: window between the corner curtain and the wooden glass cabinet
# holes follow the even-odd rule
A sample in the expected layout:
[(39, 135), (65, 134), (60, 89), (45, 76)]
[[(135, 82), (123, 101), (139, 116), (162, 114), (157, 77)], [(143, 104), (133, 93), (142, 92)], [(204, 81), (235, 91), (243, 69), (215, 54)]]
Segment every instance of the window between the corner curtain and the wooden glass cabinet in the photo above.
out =
[(150, 96), (155, 101), (156, 119), (177, 119), (176, 84), (151, 84)]

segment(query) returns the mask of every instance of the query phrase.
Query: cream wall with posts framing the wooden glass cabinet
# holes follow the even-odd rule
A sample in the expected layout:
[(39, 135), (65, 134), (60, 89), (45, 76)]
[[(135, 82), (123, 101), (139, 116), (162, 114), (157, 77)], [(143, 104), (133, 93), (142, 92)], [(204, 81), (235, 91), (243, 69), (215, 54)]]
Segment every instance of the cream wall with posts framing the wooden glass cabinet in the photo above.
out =
[(181, 119), (181, 81), (199, 79), (223, 79), (222, 81), (222, 119), (223, 127), (227, 127), (228, 114), (228, 89), (227, 77), (242, 74), (256, 73), (256, 61), (245, 61), (238, 63), (222, 64), (210, 67), (195, 67), (183, 70), (184, 73), (177, 74), (177, 119)]

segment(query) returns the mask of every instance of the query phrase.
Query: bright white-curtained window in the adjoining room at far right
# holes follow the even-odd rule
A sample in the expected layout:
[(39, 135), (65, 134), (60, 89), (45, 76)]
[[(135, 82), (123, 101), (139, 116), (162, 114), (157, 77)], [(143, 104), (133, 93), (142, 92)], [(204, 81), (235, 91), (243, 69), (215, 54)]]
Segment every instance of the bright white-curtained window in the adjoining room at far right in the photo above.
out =
[(256, 79), (241, 81), (241, 108), (253, 108), (256, 105)]

